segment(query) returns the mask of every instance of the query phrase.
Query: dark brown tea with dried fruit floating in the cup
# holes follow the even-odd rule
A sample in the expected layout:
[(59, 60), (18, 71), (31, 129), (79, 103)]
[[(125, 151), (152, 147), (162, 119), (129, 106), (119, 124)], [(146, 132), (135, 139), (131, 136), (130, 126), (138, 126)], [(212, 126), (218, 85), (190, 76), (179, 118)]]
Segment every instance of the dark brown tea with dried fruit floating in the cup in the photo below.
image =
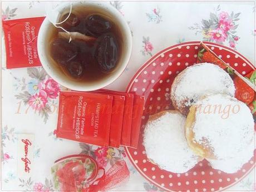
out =
[[(63, 13), (64, 21), (68, 13)], [(107, 12), (95, 8), (73, 8), (70, 17), (58, 24), (68, 32), (92, 37), (85, 41), (75, 38), (69, 42), (56, 28), (50, 40), (50, 55), (63, 73), (73, 80), (95, 82), (104, 80), (118, 67), (122, 52), (122, 37), (115, 21)]]

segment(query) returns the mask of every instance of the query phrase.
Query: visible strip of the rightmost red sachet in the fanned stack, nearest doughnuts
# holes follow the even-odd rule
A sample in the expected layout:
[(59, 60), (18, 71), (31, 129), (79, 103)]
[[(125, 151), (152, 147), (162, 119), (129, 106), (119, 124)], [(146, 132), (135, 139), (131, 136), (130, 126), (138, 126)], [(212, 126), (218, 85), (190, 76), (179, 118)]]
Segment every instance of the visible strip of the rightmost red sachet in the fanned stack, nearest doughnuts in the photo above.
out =
[(144, 96), (134, 95), (134, 106), (132, 108), (131, 124), (131, 147), (137, 148), (140, 135), (141, 117), (144, 107)]

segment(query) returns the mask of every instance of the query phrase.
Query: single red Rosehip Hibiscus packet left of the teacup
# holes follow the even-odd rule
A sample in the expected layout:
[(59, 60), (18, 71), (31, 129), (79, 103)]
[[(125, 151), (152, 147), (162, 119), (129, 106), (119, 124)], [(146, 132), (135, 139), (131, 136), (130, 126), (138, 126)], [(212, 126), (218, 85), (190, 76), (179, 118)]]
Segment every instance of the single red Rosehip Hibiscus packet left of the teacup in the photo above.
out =
[(6, 67), (41, 66), (37, 53), (37, 35), (45, 17), (5, 20)]

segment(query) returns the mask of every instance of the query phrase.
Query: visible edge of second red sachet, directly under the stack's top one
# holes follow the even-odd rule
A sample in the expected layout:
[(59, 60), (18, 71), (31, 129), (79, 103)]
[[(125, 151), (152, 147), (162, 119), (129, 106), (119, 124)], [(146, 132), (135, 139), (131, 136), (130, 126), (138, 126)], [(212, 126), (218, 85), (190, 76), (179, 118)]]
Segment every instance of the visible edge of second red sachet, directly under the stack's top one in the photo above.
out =
[(113, 96), (112, 117), (110, 126), (109, 146), (119, 147), (122, 134), (122, 122), (124, 120), (125, 96), (114, 95), (112, 91), (97, 90), (93, 93), (108, 93)]

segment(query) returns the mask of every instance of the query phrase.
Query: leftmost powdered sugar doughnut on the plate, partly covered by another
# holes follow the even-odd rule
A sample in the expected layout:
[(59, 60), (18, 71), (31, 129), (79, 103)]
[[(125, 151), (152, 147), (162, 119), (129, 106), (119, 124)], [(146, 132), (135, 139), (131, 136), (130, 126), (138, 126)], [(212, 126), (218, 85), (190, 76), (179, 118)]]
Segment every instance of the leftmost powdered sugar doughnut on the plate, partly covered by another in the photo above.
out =
[(163, 111), (152, 115), (144, 131), (147, 157), (160, 169), (185, 173), (200, 158), (189, 149), (184, 134), (185, 117), (178, 111)]

